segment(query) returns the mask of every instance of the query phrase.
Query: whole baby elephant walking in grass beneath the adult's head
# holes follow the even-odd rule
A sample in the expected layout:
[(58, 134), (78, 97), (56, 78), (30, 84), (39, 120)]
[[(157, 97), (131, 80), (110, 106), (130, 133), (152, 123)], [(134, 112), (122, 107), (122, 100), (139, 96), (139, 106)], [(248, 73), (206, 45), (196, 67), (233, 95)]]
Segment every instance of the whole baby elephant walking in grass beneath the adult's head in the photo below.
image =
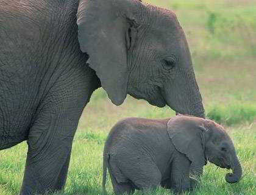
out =
[(229, 183), (241, 179), (235, 148), (223, 127), (208, 119), (176, 116), (171, 119), (127, 118), (119, 121), (104, 147), (102, 189), (107, 169), (117, 195), (158, 185), (174, 192), (192, 190), (207, 161), (232, 169)]

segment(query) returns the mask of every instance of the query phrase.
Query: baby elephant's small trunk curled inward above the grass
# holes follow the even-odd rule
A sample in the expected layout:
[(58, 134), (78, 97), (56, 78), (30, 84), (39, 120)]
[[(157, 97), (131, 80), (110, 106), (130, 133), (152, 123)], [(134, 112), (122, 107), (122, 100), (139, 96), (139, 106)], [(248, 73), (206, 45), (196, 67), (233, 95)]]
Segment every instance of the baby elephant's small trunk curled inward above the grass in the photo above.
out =
[(235, 154), (232, 162), (232, 173), (226, 174), (226, 181), (228, 183), (239, 182), (242, 176), (242, 172), (243, 171), (242, 171), (240, 162), (238, 161), (238, 158), (236, 157), (236, 154)]

